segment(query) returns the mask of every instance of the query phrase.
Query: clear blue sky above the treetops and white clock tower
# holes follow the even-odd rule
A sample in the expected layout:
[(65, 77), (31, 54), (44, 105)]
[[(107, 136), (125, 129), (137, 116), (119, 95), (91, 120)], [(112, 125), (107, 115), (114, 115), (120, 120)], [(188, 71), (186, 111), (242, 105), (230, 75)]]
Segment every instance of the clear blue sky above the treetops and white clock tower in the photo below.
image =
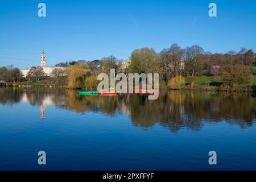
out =
[[(46, 3), (47, 16), (38, 16)], [(208, 16), (210, 2), (217, 17)], [(128, 59), (137, 48), (156, 52), (177, 43), (205, 51), (256, 51), (256, 1), (23, 0), (0, 2), (0, 67), (30, 68), (67, 60), (114, 55)]]

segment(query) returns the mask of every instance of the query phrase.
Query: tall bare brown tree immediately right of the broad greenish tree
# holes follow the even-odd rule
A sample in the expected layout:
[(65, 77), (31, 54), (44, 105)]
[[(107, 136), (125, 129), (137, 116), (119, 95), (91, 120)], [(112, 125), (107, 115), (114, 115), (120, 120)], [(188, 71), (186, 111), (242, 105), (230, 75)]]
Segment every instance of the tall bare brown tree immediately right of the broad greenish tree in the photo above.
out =
[(183, 70), (183, 52), (183, 49), (177, 44), (172, 44), (170, 48), (163, 49), (163, 51), (160, 52), (164, 80), (167, 81), (172, 77), (181, 75)]

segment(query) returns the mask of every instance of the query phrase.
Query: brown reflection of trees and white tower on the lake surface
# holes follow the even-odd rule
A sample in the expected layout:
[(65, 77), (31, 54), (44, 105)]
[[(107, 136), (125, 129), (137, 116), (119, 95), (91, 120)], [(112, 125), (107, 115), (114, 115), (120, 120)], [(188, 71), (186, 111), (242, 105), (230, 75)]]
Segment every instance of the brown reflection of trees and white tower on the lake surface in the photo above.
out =
[(55, 105), (78, 113), (94, 111), (113, 117), (127, 114), (134, 126), (152, 127), (158, 123), (173, 132), (181, 127), (199, 130), (205, 122), (225, 121), (245, 128), (253, 125), (256, 115), (252, 93), (160, 90), (158, 100), (148, 100), (139, 94), (79, 96), (77, 90), (66, 89), (0, 89), (0, 104), (18, 102), (40, 106), (42, 118), (47, 115), (45, 107)]

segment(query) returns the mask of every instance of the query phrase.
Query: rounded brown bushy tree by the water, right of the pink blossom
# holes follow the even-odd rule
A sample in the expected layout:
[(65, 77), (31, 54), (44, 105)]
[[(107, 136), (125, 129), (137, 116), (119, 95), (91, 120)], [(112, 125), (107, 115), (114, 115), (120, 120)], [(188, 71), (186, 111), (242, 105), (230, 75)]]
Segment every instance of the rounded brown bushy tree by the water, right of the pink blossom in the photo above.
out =
[(221, 68), (222, 80), (230, 85), (250, 84), (253, 75), (245, 65), (226, 65)]

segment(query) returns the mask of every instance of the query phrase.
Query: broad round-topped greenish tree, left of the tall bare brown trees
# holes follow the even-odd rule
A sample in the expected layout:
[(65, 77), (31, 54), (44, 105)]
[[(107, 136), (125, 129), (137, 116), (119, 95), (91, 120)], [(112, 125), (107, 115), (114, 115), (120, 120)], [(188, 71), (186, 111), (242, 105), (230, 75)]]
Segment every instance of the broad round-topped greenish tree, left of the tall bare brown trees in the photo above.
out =
[(130, 73), (159, 73), (160, 57), (154, 49), (135, 49), (131, 53)]

